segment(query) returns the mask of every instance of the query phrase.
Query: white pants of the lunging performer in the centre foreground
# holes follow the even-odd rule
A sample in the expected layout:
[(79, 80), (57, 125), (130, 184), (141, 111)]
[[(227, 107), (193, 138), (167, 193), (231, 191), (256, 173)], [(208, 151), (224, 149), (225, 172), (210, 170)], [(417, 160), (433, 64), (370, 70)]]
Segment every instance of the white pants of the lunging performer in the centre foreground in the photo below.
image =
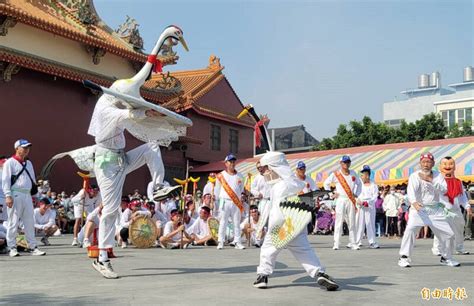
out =
[[(306, 230), (303, 230), (295, 239), (290, 241), (287, 248), (309, 276), (315, 277), (318, 272), (324, 272), (324, 267), (321, 266), (318, 256), (309, 244)], [(266, 235), (260, 250), (260, 265), (257, 267), (257, 274), (272, 274), (276, 258), (281, 250), (273, 246), (271, 235)]]

